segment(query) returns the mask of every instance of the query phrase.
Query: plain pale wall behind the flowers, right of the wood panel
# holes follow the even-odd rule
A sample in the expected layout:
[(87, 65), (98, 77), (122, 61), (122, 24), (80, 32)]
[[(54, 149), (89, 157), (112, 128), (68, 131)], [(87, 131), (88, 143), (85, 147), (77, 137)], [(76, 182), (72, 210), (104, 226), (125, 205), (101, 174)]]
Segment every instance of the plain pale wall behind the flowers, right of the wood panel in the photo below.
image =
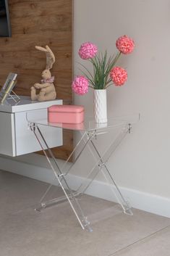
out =
[[(120, 186), (170, 197), (170, 1), (75, 0), (74, 15), (75, 75), (81, 73), (77, 51), (82, 42), (115, 53), (116, 38), (134, 38), (135, 51), (119, 61), (128, 81), (122, 88), (109, 88), (107, 96), (109, 113), (140, 112), (141, 120), (109, 167)], [(90, 115), (93, 91), (75, 96), (75, 103), (84, 104)]]

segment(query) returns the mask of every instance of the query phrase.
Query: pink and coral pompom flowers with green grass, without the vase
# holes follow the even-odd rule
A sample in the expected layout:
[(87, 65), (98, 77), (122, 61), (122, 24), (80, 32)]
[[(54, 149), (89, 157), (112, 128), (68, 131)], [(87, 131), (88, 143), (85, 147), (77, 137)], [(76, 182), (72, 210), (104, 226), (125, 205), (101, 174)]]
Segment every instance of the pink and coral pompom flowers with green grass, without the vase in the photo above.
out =
[[(80, 46), (79, 55), (82, 59), (88, 60), (93, 65), (93, 73), (85, 68), (83, 75), (79, 75), (72, 82), (72, 90), (76, 94), (83, 95), (88, 92), (88, 88), (106, 89), (111, 84), (123, 86), (127, 80), (127, 70), (122, 67), (115, 67), (121, 54), (130, 54), (135, 48), (135, 43), (128, 36), (121, 36), (116, 40), (118, 53), (116, 56), (107, 57), (107, 51), (104, 54), (98, 53), (98, 48), (90, 42)], [(90, 84), (89, 84), (90, 83)]]

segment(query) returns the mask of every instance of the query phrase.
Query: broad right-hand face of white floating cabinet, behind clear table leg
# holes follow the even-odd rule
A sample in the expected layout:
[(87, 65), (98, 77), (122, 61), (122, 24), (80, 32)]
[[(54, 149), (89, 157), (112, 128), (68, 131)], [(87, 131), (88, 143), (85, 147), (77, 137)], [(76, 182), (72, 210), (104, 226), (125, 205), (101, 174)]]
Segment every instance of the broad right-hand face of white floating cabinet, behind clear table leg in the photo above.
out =
[[(33, 110), (29, 112), (17, 112), (14, 114), (16, 155), (28, 154), (41, 150), (41, 146), (35, 139), (33, 131), (28, 128), (26, 114), (30, 120), (43, 119), (47, 117), (47, 110)], [(41, 125), (41, 132), (46, 138), (49, 147), (62, 145), (62, 129)], [(44, 146), (44, 145), (43, 145)]]

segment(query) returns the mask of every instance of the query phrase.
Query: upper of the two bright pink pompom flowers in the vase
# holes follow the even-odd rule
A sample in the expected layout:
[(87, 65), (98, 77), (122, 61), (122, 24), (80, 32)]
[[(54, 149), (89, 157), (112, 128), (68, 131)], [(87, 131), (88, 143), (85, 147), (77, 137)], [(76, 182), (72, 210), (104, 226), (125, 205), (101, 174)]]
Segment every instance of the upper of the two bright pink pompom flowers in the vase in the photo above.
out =
[(95, 57), (95, 54), (98, 52), (97, 46), (90, 42), (84, 43), (80, 46), (79, 55), (82, 59), (91, 59)]

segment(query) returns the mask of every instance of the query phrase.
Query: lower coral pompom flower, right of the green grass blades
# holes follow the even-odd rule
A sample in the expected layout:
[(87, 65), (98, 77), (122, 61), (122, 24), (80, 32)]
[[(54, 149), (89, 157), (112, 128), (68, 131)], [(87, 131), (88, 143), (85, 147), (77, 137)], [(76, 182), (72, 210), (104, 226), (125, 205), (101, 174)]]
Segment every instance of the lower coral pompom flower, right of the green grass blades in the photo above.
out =
[(110, 72), (110, 77), (115, 86), (123, 86), (127, 80), (127, 70), (122, 67), (114, 67)]

